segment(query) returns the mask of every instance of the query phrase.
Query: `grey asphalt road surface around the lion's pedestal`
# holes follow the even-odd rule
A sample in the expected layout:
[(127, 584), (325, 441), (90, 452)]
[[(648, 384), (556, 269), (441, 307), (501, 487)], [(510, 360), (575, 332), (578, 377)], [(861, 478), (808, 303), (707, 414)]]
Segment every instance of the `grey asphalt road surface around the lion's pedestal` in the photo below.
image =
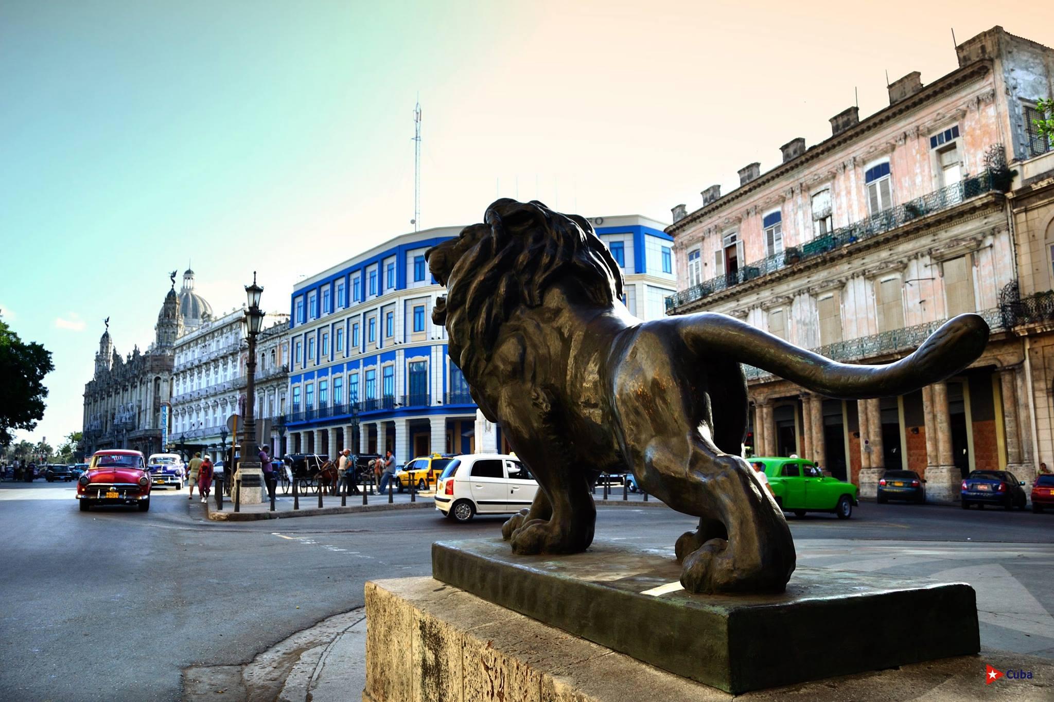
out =
[[(432, 541), (490, 537), (431, 509), (216, 523), (186, 493), (80, 513), (72, 484), (0, 484), (0, 699), (176, 700), (188, 665), (245, 663), (363, 605), (367, 580), (429, 575)], [(692, 520), (599, 510), (598, 538), (669, 546)], [(800, 563), (967, 580), (982, 643), (1054, 658), (1054, 515), (862, 504), (790, 517)], [(976, 581), (976, 582), (974, 582)], [(349, 698), (350, 699), (350, 698)]]

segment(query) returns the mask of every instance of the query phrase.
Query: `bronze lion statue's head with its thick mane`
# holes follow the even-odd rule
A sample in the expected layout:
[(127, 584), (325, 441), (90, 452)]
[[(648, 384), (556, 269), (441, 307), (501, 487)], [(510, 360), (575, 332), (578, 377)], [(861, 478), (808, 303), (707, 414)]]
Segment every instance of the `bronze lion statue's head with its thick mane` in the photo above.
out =
[(558, 282), (572, 283), (590, 302), (610, 306), (622, 297), (619, 264), (592, 226), (578, 215), (536, 200), (496, 200), (485, 223), (430, 248), (428, 267), (447, 297), (432, 321), (450, 334), (450, 356), (471, 382), (486, 364), (499, 329), (520, 307), (542, 304)]

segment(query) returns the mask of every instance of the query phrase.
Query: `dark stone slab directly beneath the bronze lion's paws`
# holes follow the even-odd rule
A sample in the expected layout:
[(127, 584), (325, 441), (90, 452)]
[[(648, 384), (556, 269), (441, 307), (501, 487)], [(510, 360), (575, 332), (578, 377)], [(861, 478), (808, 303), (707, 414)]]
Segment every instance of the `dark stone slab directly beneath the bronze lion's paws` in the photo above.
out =
[(799, 567), (781, 595), (691, 595), (672, 549), (597, 541), (514, 556), (501, 539), (432, 544), (436, 580), (728, 693), (980, 650), (973, 587)]

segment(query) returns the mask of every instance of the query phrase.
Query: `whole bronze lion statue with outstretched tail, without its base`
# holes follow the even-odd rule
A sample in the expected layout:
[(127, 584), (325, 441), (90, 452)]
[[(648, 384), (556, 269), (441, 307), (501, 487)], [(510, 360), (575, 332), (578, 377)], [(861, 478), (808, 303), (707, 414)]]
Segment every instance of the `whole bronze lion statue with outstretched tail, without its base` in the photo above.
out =
[(518, 554), (585, 550), (601, 472), (638, 484), (699, 528), (677, 540), (695, 593), (782, 591), (795, 568), (783, 513), (739, 456), (748, 363), (832, 398), (901, 395), (958, 373), (988, 341), (960, 315), (889, 365), (836, 363), (726, 315), (642, 322), (622, 273), (582, 217), (497, 200), (485, 223), (428, 252), (447, 287), (433, 321), (449, 333), (483, 415), (538, 479), (503, 526)]

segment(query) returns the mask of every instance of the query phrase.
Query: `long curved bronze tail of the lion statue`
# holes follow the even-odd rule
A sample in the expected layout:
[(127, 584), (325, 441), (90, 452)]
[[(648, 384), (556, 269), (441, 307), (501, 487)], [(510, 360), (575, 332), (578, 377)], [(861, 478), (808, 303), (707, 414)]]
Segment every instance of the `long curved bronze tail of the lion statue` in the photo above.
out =
[(911, 356), (887, 365), (856, 365), (799, 348), (727, 315), (701, 313), (670, 321), (697, 356), (727, 355), (843, 400), (904, 395), (944, 380), (975, 361), (989, 337), (983, 318), (959, 315), (930, 335)]

